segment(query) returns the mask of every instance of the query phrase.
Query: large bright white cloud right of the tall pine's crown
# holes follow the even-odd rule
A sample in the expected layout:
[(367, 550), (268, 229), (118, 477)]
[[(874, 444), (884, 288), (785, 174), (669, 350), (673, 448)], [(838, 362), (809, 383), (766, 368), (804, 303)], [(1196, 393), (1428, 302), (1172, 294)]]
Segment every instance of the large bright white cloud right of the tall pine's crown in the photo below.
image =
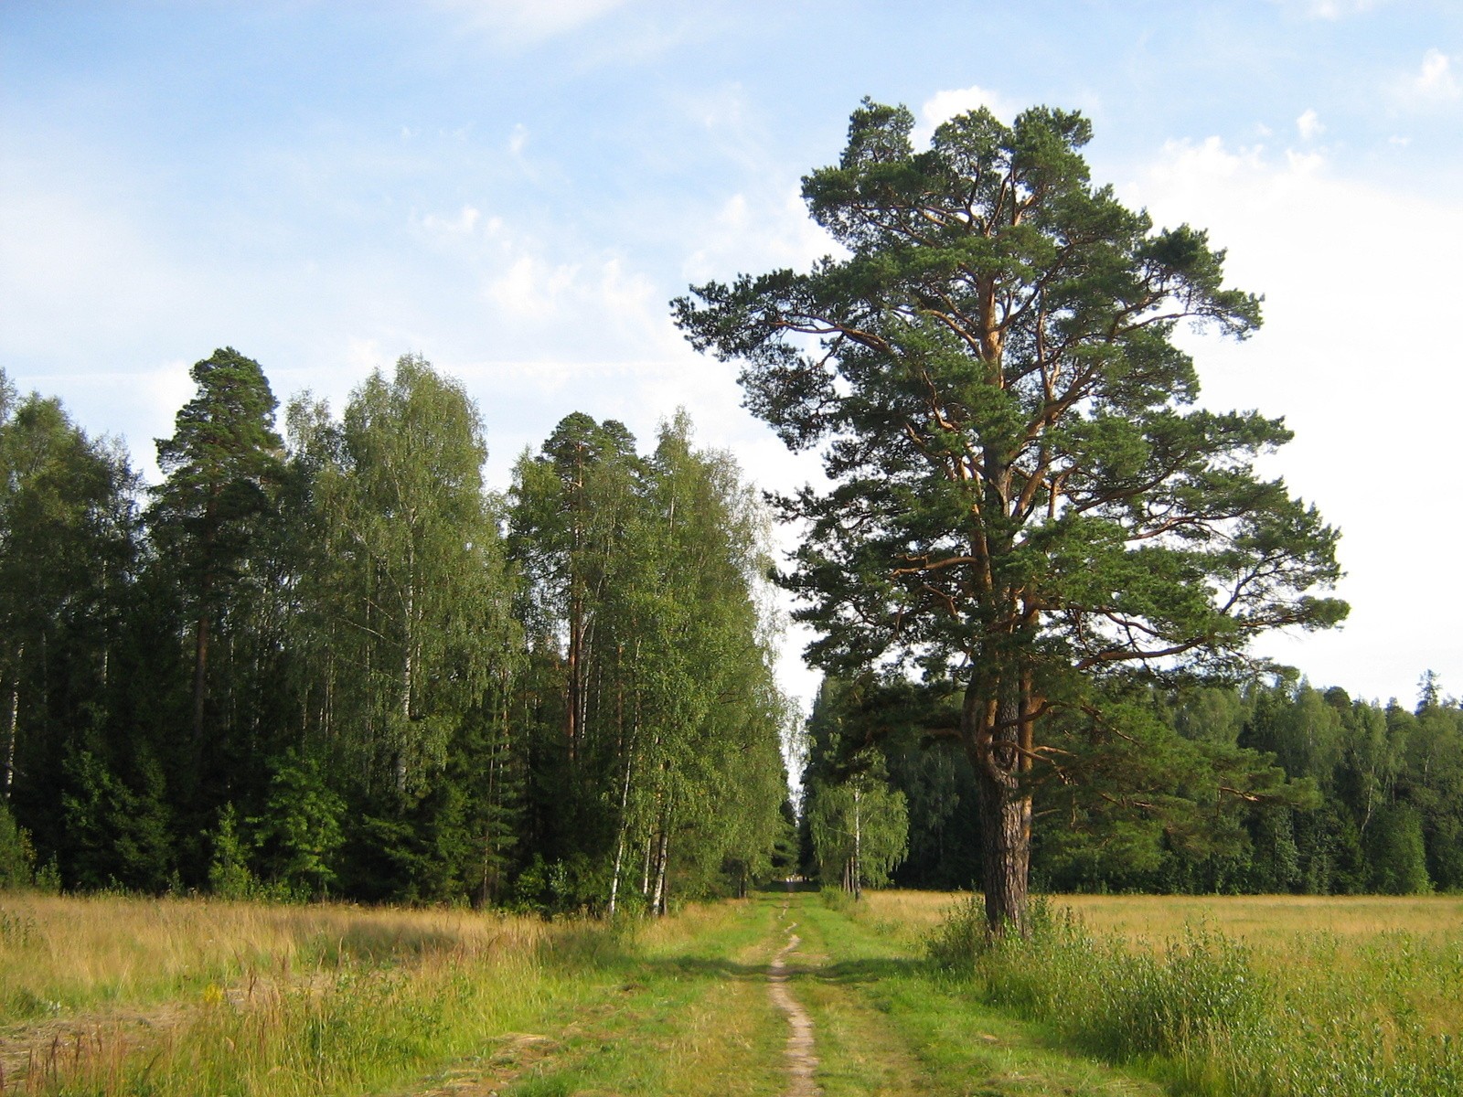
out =
[(1445, 579), (1463, 519), (1437, 494), (1456, 458), (1463, 374), (1447, 329), (1426, 319), (1456, 309), (1463, 200), (1347, 178), (1320, 154), (1219, 139), (1169, 145), (1122, 193), (1160, 225), (1207, 227), (1229, 250), (1229, 281), (1265, 294), (1265, 325), (1248, 342), (1184, 333), (1184, 344), (1206, 404), (1286, 417), (1296, 439), (1267, 471), (1344, 532), (1349, 625), (1263, 649), (1358, 693), (1406, 689), (1445, 663), (1440, 652), (1456, 649), (1447, 622), (1463, 616), (1463, 588)]

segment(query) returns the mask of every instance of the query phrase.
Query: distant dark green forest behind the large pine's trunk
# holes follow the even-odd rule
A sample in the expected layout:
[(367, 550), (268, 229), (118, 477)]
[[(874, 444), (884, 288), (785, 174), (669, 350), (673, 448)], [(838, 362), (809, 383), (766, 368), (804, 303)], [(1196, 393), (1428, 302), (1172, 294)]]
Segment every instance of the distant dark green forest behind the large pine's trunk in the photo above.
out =
[[(1033, 886), (1463, 889), (1463, 706), (1431, 671), (1412, 709), (1286, 674), (1143, 689), (1127, 704), (1128, 718), (1105, 736), (1068, 727), (1052, 775), (1036, 785)], [(954, 723), (948, 705), (911, 686), (825, 682), (803, 771), (808, 872), (843, 882), (821, 853), (819, 804), (847, 797), (859, 781), (876, 785), (887, 804), (873, 828), (900, 831), (894, 863), (866, 867), (866, 883), (979, 882), (977, 788), (945, 731)]]

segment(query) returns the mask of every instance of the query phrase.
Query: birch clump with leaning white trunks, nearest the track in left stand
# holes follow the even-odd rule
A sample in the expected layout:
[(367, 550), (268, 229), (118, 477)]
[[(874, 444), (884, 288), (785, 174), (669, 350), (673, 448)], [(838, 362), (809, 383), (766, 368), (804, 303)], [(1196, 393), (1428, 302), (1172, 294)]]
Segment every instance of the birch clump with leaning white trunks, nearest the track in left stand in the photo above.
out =
[(541, 673), (530, 783), (554, 804), (519, 901), (663, 913), (673, 889), (745, 891), (787, 794), (756, 497), (685, 417), (641, 458), (622, 424), (571, 415), (519, 461), (512, 502)]

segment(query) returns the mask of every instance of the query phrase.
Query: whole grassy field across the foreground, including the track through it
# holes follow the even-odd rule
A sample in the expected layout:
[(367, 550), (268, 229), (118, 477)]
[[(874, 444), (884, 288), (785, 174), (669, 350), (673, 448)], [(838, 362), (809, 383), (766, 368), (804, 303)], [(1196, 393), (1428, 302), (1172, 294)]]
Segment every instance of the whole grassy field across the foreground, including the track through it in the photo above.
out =
[(1463, 1093), (1463, 898), (1074, 897), (998, 949), (958, 897), (865, 900), (0, 895), (0, 1093)]

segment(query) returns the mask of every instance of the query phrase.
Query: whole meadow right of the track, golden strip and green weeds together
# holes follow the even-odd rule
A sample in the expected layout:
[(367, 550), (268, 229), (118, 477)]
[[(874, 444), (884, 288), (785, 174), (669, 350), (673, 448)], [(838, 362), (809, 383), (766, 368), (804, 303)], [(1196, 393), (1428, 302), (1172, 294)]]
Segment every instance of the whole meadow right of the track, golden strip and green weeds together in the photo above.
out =
[(1463, 1094), (1459, 897), (1061, 897), (998, 946), (979, 900), (881, 904), (985, 1002), (1179, 1093)]

